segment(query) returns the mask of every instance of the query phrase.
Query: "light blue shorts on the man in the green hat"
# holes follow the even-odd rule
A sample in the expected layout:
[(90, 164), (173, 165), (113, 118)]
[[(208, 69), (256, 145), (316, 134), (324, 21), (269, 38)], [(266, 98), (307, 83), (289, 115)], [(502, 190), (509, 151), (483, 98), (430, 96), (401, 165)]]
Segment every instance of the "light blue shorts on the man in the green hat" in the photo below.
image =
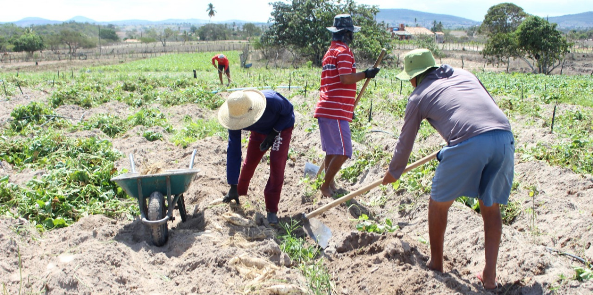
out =
[(432, 178), (432, 200), (478, 198), (485, 206), (506, 205), (514, 173), (515, 139), (512, 132), (492, 130), (446, 146)]

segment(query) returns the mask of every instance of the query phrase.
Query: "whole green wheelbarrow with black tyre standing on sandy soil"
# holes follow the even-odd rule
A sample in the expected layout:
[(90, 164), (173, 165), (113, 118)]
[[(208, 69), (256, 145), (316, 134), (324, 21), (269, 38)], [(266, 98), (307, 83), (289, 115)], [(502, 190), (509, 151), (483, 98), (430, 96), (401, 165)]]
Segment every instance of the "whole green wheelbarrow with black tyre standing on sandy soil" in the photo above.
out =
[(167, 242), (167, 222), (175, 219), (173, 209), (179, 210), (181, 222), (187, 219), (183, 193), (192, 184), (197, 172), (200, 172), (200, 169), (193, 168), (195, 157), (196, 150), (193, 150), (189, 169), (173, 169), (157, 174), (141, 175), (136, 172), (134, 158), (130, 153), (132, 172), (111, 178), (111, 181), (122, 187), (127, 195), (138, 200), (142, 223), (150, 227), (152, 243), (155, 246), (162, 246)]

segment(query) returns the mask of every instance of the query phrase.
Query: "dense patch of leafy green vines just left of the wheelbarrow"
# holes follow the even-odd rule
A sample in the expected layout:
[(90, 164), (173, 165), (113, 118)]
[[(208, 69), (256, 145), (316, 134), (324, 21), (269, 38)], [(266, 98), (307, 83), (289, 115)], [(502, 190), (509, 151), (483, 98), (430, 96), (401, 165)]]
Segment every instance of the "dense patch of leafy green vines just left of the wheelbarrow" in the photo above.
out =
[(17, 168), (43, 166), (47, 173), (23, 186), (2, 178), (0, 214), (24, 217), (39, 229), (68, 226), (88, 214), (131, 217), (138, 212), (135, 202), (110, 181), (121, 156), (107, 140), (55, 132), (3, 143), (0, 158)]

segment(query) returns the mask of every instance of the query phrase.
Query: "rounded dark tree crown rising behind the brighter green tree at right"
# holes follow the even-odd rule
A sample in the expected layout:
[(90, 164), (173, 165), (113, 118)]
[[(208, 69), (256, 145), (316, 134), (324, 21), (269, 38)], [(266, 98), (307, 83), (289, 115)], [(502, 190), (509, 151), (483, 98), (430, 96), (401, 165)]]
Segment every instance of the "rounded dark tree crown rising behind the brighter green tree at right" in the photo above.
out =
[(512, 3), (501, 3), (488, 8), (484, 15), (484, 21), (478, 30), (478, 33), (486, 34), (491, 37), (499, 33), (512, 33), (517, 30), (519, 24), (528, 14), (523, 8)]

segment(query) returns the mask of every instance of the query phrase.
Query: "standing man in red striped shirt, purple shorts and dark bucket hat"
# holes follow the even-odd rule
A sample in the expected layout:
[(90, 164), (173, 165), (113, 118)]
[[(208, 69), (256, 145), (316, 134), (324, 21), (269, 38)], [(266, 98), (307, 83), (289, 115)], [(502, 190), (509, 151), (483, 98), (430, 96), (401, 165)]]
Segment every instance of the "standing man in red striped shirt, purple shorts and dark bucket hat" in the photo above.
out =
[(336, 15), (333, 27), (327, 28), (333, 34), (330, 48), (321, 63), (321, 89), (314, 114), (321, 133), (321, 149), (326, 152), (326, 175), (320, 188), (321, 194), (326, 197), (336, 193), (334, 177), (346, 159), (352, 156), (349, 122), (354, 114), (356, 82), (375, 78), (379, 72), (379, 68), (356, 72), (354, 54), (348, 46), (354, 37), (353, 33), (360, 29), (353, 25), (349, 14)]

